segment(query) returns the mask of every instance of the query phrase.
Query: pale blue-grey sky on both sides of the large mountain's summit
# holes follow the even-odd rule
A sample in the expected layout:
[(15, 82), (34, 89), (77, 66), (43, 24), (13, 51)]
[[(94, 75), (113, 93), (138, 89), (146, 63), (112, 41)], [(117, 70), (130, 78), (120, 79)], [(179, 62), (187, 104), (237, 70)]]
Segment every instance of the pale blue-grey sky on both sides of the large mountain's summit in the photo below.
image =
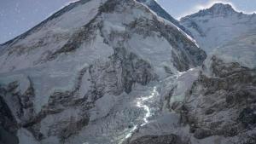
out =
[[(74, 0), (0, 0), (0, 43), (26, 32), (50, 14)], [(179, 19), (213, 3), (230, 3), (244, 13), (256, 12), (256, 0), (157, 0), (174, 18)]]

